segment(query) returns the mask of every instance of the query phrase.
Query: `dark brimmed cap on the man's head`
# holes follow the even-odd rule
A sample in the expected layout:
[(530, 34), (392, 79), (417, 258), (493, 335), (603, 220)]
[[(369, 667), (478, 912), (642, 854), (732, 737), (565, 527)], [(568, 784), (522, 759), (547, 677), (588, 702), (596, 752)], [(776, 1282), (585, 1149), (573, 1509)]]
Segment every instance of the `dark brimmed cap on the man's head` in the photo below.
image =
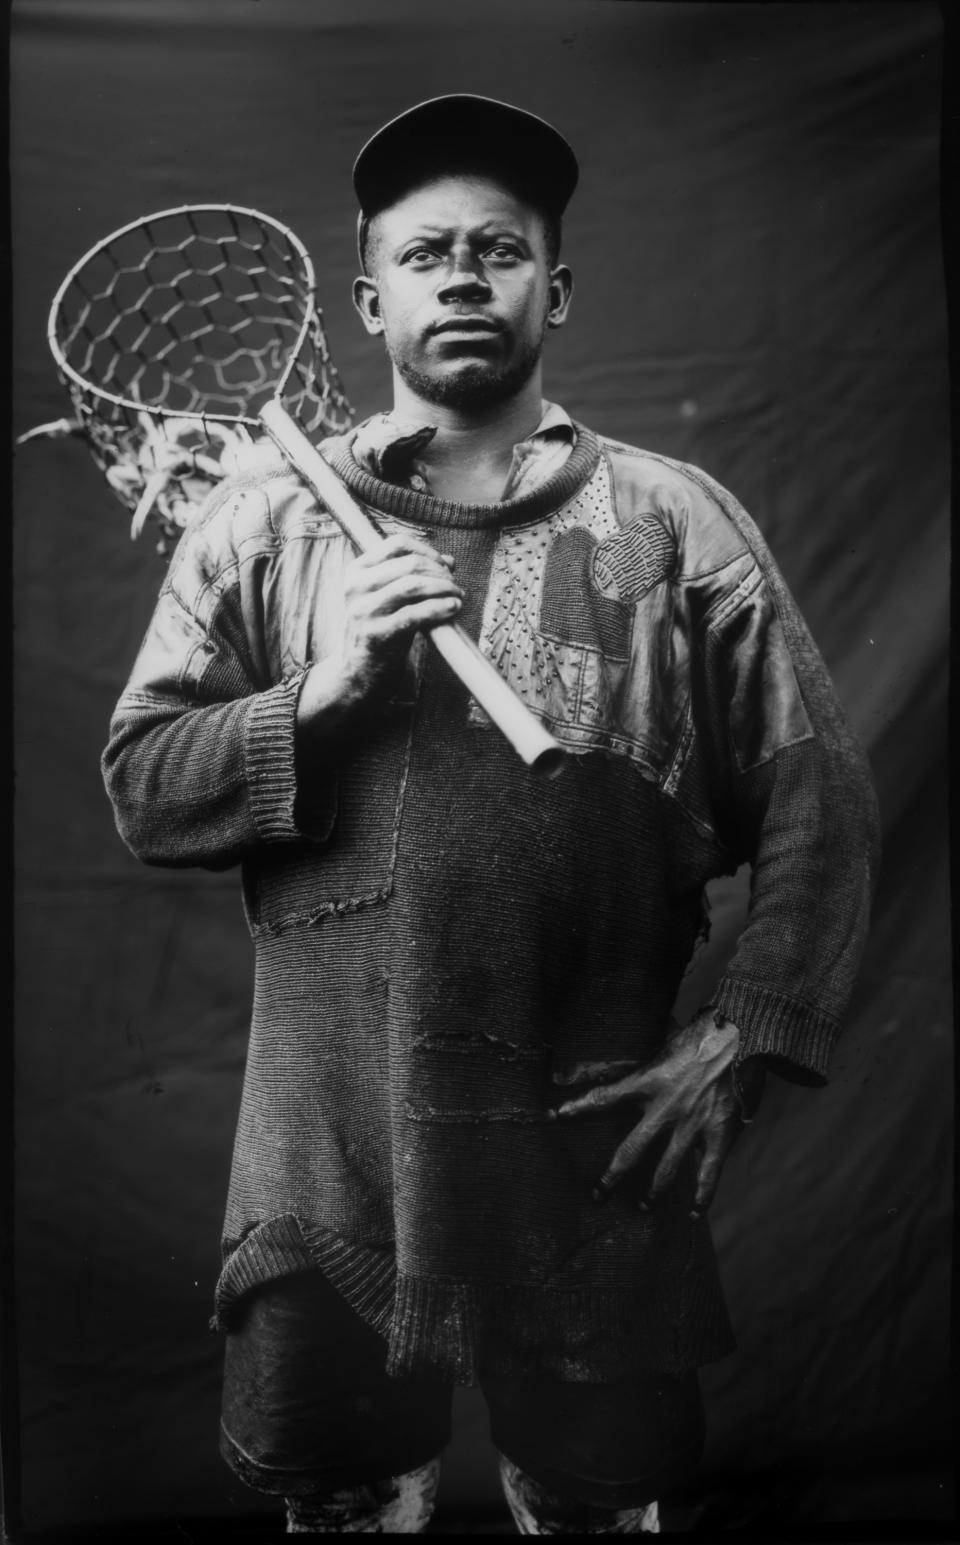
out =
[(509, 102), (458, 93), (430, 97), (393, 117), (354, 162), (365, 218), (386, 209), (425, 176), (490, 171), (550, 215), (563, 215), (580, 168), (563, 134)]

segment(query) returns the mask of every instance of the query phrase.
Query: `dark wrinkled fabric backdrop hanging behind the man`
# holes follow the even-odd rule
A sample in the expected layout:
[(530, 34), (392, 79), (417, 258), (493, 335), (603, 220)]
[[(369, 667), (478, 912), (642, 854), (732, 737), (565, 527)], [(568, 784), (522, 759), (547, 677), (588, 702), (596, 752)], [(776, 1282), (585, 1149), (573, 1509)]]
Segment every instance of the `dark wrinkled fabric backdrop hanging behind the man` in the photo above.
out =
[[(14, 431), (68, 411), (66, 269), (187, 201), (289, 222), (360, 416), (388, 372), (349, 306), (349, 165), (468, 90), (583, 167), (547, 394), (706, 468), (765, 531), (869, 749), (872, 941), (827, 1089), (771, 1080), (716, 1239), (739, 1352), (705, 1374), (686, 1519), (943, 1517), (949, 1210), (948, 396), (935, 6), (611, 0), (20, 0), (12, 12)], [(235, 873), (142, 868), (99, 776), (162, 579), (77, 442), (15, 465), (17, 1281), (31, 1530), (274, 1505), (216, 1454), (207, 1329), (252, 953)], [(714, 898), (696, 1007), (731, 947)], [(458, 1395), (448, 1516), (495, 1513)], [(8, 1448), (12, 1440), (8, 1435)], [(130, 1528), (127, 1537), (136, 1537)]]

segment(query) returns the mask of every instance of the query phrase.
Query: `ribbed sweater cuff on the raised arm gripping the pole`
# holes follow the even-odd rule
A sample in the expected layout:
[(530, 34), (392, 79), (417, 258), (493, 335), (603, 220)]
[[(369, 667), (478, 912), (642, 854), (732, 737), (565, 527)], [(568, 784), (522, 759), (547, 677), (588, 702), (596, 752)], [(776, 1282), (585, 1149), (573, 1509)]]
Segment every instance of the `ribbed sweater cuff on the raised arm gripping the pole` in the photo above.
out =
[[(308, 836), (297, 825), (297, 698), (306, 671), (250, 698), (246, 725), (246, 768), (257, 834), (264, 842), (297, 842)], [(329, 810), (311, 791), (311, 833), (329, 836), (335, 816), (335, 785), (331, 782)]]

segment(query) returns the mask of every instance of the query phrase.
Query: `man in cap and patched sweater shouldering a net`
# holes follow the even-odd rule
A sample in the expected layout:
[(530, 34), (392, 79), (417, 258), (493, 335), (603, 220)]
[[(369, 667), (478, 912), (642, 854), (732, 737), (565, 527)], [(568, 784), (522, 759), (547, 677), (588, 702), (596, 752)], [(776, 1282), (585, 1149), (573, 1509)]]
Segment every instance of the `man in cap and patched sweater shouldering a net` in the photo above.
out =
[[(223, 1452), (291, 1533), (424, 1528), (454, 1383), (521, 1533), (655, 1531), (731, 1346), (723, 1157), (768, 1066), (824, 1080), (867, 925), (869, 777), (756, 527), (543, 400), (575, 182), (482, 97), (369, 141), (354, 301), (394, 405), (325, 456), (383, 544), (354, 558), (280, 462), (224, 485), (105, 752), (147, 862), (243, 865)], [(425, 646), (453, 620), (570, 752), (555, 782)]]

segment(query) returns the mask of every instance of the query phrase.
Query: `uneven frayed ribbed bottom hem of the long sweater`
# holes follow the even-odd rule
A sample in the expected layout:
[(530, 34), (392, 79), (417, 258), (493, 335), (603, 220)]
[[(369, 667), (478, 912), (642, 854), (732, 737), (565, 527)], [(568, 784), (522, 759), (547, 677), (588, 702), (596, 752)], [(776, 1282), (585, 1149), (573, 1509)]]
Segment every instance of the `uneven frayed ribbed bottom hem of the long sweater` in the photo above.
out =
[(393, 1378), (473, 1386), (484, 1378), (679, 1377), (736, 1346), (713, 1273), (693, 1256), (679, 1293), (668, 1293), (654, 1270), (575, 1284), (465, 1282), (407, 1273), (397, 1268), (393, 1245), (352, 1244), (286, 1213), (227, 1245), (210, 1324), (229, 1333), (254, 1287), (322, 1270), (383, 1336)]

